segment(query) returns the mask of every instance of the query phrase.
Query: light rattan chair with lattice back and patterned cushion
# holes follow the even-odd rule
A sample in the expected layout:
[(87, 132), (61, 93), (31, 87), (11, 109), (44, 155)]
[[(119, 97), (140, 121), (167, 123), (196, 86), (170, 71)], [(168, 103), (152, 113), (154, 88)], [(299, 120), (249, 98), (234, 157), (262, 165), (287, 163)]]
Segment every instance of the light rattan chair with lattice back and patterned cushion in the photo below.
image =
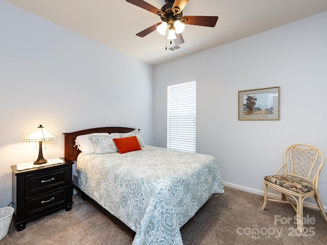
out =
[[(316, 163), (317, 167), (314, 169)], [(322, 218), (327, 222), (326, 213), (318, 191), (318, 179), (324, 164), (322, 152), (309, 144), (292, 144), (284, 152), (284, 163), (278, 168), (275, 175), (264, 177), (264, 203), (267, 201), (289, 203), (296, 211), (296, 223), (299, 232), (303, 232), (303, 207), (320, 210)], [(288, 170), (290, 167), (290, 171)], [(284, 174), (278, 174), (284, 168)], [(311, 178), (313, 176), (313, 178)], [(281, 200), (267, 198), (268, 187), (282, 193)], [(303, 202), (308, 197), (314, 197), (317, 206), (305, 205)]]

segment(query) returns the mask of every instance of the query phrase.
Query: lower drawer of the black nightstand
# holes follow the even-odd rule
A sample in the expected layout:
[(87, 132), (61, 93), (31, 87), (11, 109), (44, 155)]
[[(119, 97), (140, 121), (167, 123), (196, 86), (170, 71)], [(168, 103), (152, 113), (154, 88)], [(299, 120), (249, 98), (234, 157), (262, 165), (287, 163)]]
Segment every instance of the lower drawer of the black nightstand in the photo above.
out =
[(67, 188), (61, 188), (45, 195), (37, 195), (26, 199), (26, 216), (46, 211), (45, 209), (53, 209), (61, 206), (65, 202)]

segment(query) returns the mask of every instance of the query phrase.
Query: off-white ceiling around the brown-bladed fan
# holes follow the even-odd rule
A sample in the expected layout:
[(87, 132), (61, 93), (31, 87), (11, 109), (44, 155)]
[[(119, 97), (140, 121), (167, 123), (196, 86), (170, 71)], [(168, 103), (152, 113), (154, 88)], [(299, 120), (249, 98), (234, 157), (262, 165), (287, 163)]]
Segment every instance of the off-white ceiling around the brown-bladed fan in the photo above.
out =
[[(327, 11), (327, 0), (190, 0), (183, 15), (218, 16), (216, 27), (186, 25), (185, 43), (165, 50), (156, 31), (135, 34), (160, 17), (125, 0), (7, 0), (128, 56), (158, 65)], [(146, 0), (160, 9), (164, 0)], [(168, 43), (169, 44), (169, 43)], [(169, 45), (168, 45), (169, 46)]]

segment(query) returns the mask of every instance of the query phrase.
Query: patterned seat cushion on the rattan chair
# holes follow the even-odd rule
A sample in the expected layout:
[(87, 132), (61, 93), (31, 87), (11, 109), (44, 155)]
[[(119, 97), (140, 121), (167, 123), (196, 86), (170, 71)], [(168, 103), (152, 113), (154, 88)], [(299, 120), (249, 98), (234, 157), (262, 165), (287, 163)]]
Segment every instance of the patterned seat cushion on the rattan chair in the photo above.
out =
[(297, 193), (314, 190), (310, 181), (292, 175), (268, 175), (264, 180)]

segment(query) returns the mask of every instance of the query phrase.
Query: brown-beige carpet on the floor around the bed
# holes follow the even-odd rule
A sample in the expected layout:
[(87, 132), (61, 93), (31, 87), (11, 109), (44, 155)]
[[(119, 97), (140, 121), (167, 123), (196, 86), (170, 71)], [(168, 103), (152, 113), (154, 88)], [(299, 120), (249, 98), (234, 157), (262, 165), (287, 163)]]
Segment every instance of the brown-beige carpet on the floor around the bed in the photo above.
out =
[[(61, 209), (33, 219), (23, 231), (17, 232), (12, 222), (0, 244), (132, 244), (133, 232), (120, 220), (79, 194), (73, 201), (71, 211)], [(262, 203), (261, 195), (225, 187), (224, 194), (209, 199), (181, 228), (183, 244), (327, 244), (327, 223), (318, 211), (305, 209), (306, 232), (299, 234), (291, 206), (268, 202), (262, 211)]]

